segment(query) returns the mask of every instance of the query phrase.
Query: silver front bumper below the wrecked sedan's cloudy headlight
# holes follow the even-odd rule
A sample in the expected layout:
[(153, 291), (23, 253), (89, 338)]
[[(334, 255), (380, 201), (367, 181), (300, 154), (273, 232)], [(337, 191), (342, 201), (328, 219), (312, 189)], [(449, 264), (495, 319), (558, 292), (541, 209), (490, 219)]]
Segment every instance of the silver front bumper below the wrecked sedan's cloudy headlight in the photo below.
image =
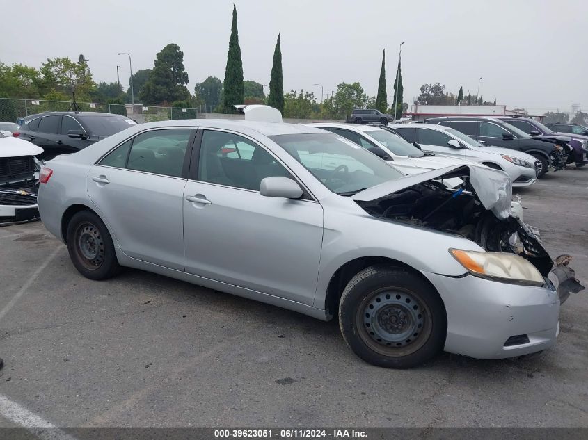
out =
[(456, 278), (422, 273), (445, 304), (445, 351), (478, 359), (502, 359), (555, 344), (559, 334), (555, 289), (493, 282), (472, 275)]

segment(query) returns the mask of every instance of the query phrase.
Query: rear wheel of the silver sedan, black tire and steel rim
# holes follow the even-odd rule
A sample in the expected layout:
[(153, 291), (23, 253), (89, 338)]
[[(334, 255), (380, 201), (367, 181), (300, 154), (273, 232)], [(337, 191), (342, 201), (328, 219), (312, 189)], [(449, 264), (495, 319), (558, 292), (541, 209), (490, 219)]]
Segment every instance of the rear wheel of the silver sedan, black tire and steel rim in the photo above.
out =
[(67, 251), (86, 278), (109, 279), (120, 272), (110, 233), (92, 211), (79, 211), (67, 223)]

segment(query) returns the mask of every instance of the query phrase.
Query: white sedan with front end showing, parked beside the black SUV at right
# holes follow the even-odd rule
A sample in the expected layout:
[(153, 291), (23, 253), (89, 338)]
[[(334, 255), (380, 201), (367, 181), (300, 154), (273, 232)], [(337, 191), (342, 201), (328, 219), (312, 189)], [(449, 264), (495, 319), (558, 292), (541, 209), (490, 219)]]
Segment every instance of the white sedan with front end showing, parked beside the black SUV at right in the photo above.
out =
[(483, 163), (506, 172), (512, 186), (530, 186), (537, 181), (537, 159), (510, 148), (486, 147), (461, 131), (435, 124), (390, 127), (407, 142), (418, 142), (424, 151)]

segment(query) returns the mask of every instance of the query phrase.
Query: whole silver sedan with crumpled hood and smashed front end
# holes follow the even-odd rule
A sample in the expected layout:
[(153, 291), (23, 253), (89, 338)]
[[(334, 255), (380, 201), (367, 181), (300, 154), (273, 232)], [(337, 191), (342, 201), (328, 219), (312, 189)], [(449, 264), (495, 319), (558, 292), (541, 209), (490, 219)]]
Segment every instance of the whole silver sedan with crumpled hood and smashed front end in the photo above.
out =
[(312, 127), (191, 120), (58, 156), (40, 182), (42, 221), (85, 277), (139, 268), (336, 317), (372, 364), (513, 357), (559, 331), (552, 261), (498, 170), (403, 177)]

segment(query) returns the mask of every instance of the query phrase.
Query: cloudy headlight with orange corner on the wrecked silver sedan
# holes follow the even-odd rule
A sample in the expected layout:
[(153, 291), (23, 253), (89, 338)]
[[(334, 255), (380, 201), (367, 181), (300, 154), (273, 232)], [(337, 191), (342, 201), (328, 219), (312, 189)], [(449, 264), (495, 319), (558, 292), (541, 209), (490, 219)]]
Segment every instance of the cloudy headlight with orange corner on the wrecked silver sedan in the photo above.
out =
[(522, 256), (459, 249), (450, 249), (450, 254), (476, 277), (527, 286), (543, 286), (545, 283), (539, 270)]

